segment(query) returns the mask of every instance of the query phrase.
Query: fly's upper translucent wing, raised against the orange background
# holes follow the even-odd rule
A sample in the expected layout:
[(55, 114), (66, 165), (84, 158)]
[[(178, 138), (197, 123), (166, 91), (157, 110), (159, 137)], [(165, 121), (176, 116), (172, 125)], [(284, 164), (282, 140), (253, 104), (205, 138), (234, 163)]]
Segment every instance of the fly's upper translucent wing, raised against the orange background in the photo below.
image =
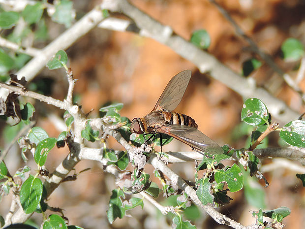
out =
[(183, 97), (191, 74), (190, 70), (184, 70), (175, 75), (167, 84), (152, 112), (156, 110), (174, 110)]

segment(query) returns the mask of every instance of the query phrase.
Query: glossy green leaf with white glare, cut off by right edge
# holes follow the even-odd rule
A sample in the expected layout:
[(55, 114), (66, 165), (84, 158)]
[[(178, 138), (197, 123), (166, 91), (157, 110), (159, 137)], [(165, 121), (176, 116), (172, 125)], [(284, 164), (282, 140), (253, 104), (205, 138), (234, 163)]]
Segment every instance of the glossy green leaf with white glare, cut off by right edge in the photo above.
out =
[(305, 147), (305, 121), (291, 121), (282, 128), (279, 136), (289, 145)]

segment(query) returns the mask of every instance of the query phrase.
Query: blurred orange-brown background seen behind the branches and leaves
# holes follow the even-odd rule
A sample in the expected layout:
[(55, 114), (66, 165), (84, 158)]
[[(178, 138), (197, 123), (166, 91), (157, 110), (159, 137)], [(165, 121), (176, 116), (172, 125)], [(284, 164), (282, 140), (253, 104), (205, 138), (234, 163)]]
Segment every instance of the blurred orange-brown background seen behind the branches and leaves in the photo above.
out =
[[(99, 2), (74, 0), (76, 19), (81, 18)], [(174, 32), (186, 40), (190, 39), (194, 31), (205, 29), (211, 37), (208, 52), (238, 73), (242, 73), (245, 61), (253, 57), (258, 58), (245, 40), (236, 35), (231, 23), (209, 0), (132, 0), (131, 2), (152, 18), (169, 25)], [(281, 58), (280, 46), (289, 37), (305, 43), (305, 1), (218, 0), (217, 3), (228, 11), (258, 47), (271, 55), (277, 65), (292, 77), (296, 76), (295, 66), (298, 64), (284, 62)], [(49, 29), (48, 37), (36, 40), (33, 43), (36, 48), (44, 47), (66, 30), (63, 25), (51, 20), (46, 19), (45, 22)], [(209, 75), (201, 74), (195, 65), (152, 39), (134, 33), (95, 28), (78, 39), (66, 51), (74, 77), (78, 79), (74, 91), (75, 99), (82, 105), (85, 113), (93, 109), (89, 117), (97, 117), (98, 109), (109, 102), (124, 103), (120, 113), (130, 120), (134, 117), (143, 117), (152, 110), (169, 80), (178, 72), (190, 69), (192, 71), (190, 83), (175, 112), (192, 117), (198, 124), (198, 129), (219, 145), (229, 144), (235, 148), (242, 148), (245, 146), (248, 134), (254, 130), (241, 124), (240, 114), (245, 98)], [(254, 78), (257, 85), (284, 100), (300, 115), (305, 112), (299, 95), (264, 62), (248, 77)], [(63, 71), (48, 69), (40, 72), (30, 85), (32, 87), (30, 90), (41, 91), (58, 99), (65, 98), (68, 86)], [(305, 92), (305, 79), (299, 86)], [(57, 121), (54, 121), (50, 115), (62, 117), (63, 112), (39, 101), (25, 99), (34, 104), (36, 117), (43, 117), (38, 120), (36, 126), (43, 127), (49, 136), (57, 137), (61, 131), (56, 128)], [(285, 124), (281, 120), (274, 121), (278, 121), (280, 125)], [(7, 129), (2, 130), (2, 133), (7, 133), (5, 132)], [(278, 132), (272, 133), (265, 144), (269, 147), (280, 146), (277, 136)], [(4, 137), (2, 137), (3, 148), (6, 144), (4, 142), (9, 142), (9, 139)], [(107, 141), (107, 146), (122, 149), (122, 146), (111, 137)], [(190, 151), (190, 148), (173, 140), (164, 147), (164, 150)], [(53, 149), (48, 155), (47, 168), (53, 171), (66, 157), (67, 152), (67, 147)], [(13, 164), (9, 164), (11, 158), (15, 158)], [(32, 160), (30, 155), (29, 158)], [(23, 161), (17, 145), (11, 149), (6, 161), (12, 171), (22, 166)], [(270, 163), (273, 162), (263, 161), (263, 165)], [(34, 163), (32, 165), (34, 168)], [(174, 171), (188, 180), (194, 180), (194, 166), (194, 163), (170, 165)], [(161, 213), (148, 202), (144, 202), (144, 210), (137, 207), (131, 211), (132, 217), (117, 219), (113, 225), (110, 225), (106, 210), (111, 191), (116, 188), (113, 175), (103, 172), (100, 165), (92, 161), (82, 161), (75, 169), (79, 172), (88, 167), (91, 170), (79, 174), (74, 182), (61, 184), (50, 196), (49, 205), (63, 208), (64, 215), (71, 225), (86, 229), (171, 228), (171, 216), (162, 217)], [(128, 168), (132, 170), (131, 166)], [(146, 165), (145, 171), (152, 174), (152, 166)], [(292, 213), (283, 221), (287, 225), (286, 228), (305, 228), (305, 189), (302, 187), (302, 182), (296, 178), (296, 173), (291, 169), (275, 166), (274, 169), (264, 173), (270, 183), (268, 188), (263, 188), (264, 184), (261, 182), (252, 179), (247, 181), (250, 186), (253, 184), (252, 195), (257, 195), (260, 199), (256, 205), (249, 203), (244, 192), (240, 191), (229, 193), (233, 200), (230, 204), (220, 207), (219, 211), (243, 225), (250, 225), (255, 222), (249, 213), (250, 210), (259, 207), (274, 209), (287, 206)], [(153, 176), (151, 178), (159, 183)], [(159, 202), (165, 205), (171, 204), (165, 198), (162, 200), (162, 197), (159, 197)], [(9, 203), (9, 198), (2, 199), (0, 204), (2, 216), (6, 214)], [(192, 220), (197, 228), (230, 228), (218, 225), (201, 209), (192, 208), (190, 213), (185, 213), (185, 216), (188, 217), (186, 219)], [(36, 219), (40, 222), (41, 216), (37, 214)]]

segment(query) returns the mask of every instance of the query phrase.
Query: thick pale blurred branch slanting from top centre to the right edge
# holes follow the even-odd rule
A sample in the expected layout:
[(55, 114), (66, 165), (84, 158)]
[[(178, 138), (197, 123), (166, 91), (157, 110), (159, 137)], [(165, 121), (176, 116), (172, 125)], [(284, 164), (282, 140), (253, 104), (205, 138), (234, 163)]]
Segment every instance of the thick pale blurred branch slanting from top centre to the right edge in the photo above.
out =
[[(201, 73), (209, 73), (214, 79), (222, 82), (244, 98), (260, 98), (267, 105), (273, 117), (288, 123), (300, 115), (289, 108), (282, 100), (274, 98), (265, 89), (256, 87), (253, 79), (246, 79), (233, 72), (230, 68), (220, 63), (213, 55), (197, 48), (181, 36), (174, 33), (169, 26), (164, 26), (152, 19), (126, 0), (104, 1), (102, 7), (113, 12), (123, 13), (134, 22), (127, 26), (126, 21), (116, 20), (113, 29), (135, 32), (139, 35), (150, 37), (173, 49), (184, 59), (196, 65)], [(112, 19), (106, 19), (112, 20)], [(131, 26), (133, 25), (133, 26)], [(109, 28), (109, 24), (100, 24)], [(116, 27), (115, 27), (116, 26)]]

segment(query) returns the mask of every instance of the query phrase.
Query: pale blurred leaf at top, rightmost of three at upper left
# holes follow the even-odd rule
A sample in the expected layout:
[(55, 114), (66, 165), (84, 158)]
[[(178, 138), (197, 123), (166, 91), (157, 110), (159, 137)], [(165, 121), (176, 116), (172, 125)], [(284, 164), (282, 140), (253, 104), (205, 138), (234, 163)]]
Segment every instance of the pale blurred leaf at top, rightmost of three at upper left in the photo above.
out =
[(66, 28), (71, 26), (74, 18), (73, 2), (69, 0), (61, 0), (55, 6), (55, 13), (52, 15), (52, 20), (65, 25)]

